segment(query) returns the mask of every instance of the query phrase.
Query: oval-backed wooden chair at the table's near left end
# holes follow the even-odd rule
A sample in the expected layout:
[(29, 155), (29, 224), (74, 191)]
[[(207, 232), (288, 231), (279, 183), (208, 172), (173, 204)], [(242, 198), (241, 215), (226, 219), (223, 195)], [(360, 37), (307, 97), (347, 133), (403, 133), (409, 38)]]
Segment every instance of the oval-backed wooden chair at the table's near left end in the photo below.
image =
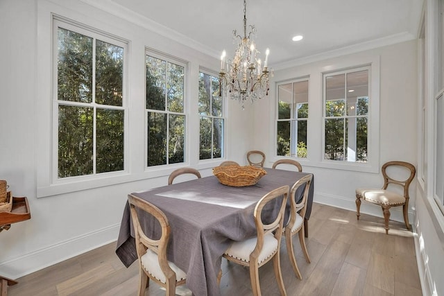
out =
[[(167, 260), (167, 245), (171, 232), (167, 216), (154, 204), (135, 195), (128, 195), (128, 202), (139, 259), (139, 296), (145, 295), (150, 279), (164, 287), (167, 290), (166, 295), (176, 295), (176, 286), (185, 284), (187, 274)], [(146, 211), (158, 221), (162, 228), (160, 238), (151, 238), (144, 233), (137, 211)]]

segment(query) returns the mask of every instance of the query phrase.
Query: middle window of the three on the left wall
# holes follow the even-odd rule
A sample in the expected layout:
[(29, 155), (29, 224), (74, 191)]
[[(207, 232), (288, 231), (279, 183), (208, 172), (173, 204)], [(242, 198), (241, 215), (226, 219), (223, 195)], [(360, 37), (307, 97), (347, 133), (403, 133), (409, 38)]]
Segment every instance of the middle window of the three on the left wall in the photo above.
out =
[(146, 53), (147, 166), (185, 162), (183, 62)]

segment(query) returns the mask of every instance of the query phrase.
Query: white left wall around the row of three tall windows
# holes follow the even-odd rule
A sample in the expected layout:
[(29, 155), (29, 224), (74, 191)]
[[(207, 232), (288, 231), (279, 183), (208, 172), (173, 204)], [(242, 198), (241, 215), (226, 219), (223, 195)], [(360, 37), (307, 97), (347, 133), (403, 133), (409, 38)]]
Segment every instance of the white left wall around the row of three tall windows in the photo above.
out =
[[(133, 148), (129, 181), (37, 198), (37, 187), (50, 166), (42, 159), (47, 159), (47, 147), (51, 147), (51, 12), (129, 41)], [(13, 195), (27, 196), (31, 207), (31, 220), (12, 224), (0, 234), (0, 275), (15, 279), (115, 241), (128, 193), (167, 184), (171, 169), (144, 172), (144, 153), (140, 152), (144, 145), (145, 46), (187, 61), (191, 130), (198, 130), (199, 67), (217, 71), (219, 60), (82, 1), (1, 0), (0, 36), (0, 179), (8, 181)], [(241, 163), (250, 146), (250, 114), (251, 110), (243, 112), (236, 102), (228, 103), (226, 155)], [(209, 175), (218, 162), (198, 162), (197, 153), (192, 153), (198, 147), (198, 132), (189, 132), (187, 137), (188, 165)]]

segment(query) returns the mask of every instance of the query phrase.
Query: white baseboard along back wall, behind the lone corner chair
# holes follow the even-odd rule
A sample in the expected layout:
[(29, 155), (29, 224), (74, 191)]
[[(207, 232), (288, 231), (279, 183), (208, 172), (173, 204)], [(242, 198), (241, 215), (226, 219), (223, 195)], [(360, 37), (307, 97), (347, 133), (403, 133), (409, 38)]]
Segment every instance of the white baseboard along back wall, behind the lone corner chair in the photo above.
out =
[[(342, 196), (329, 195), (325, 193), (314, 193), (313, 201), (319, 204), (326, 204), (340, 209), (348, 209), (349, 211), (356, 211), (355, 199), (343, 198)], [(368, 214), (371, 216), (384, 218), (381, 207), (370, 202), (362, 202), (359, 209), (361, 214)], [(413, 223), (415, 215), (409, 211), (409, 222)], [(404, 223), (404, 216), (402, 214), (402, 207), (392, 207), (390, 209), (390, 220)]]

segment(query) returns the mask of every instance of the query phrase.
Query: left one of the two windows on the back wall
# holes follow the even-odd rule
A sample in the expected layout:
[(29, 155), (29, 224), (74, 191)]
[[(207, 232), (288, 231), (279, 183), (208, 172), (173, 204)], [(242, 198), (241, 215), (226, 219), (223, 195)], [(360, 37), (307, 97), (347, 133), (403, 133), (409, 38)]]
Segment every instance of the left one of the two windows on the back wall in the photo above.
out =
[(276, 155), (307, 157), (309, 81), (278, 84)]

